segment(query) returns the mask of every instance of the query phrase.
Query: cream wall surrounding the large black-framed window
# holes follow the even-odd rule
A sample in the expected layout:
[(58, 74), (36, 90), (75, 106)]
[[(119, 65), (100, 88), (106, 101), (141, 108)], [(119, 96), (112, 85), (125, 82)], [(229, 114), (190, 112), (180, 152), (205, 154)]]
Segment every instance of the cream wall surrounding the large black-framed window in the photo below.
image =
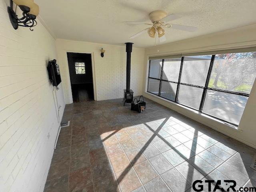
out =
[[(245, 144), (248, 144), (256, 148), (256, 82), (252, 87), (248, 102), (244, 109), (242, 119), (238, 126), (238, 130), (231, 128), (223, 124), (223, 122), (216, 121), (195, 112), (190, 109), (186, 109), (173, 102), (156, 98), (152, 94), (146, 92), (147, 76), (148, 76), (148, 57), (156, 55), (167, 55), (167, 54), (180, 54), (180, 53), (191, 53), (191, 52), (202, 52), (211, 50), (223, 50), (232, 48), (244, 48), (256, 46), (256, 25), (246, 26), (233, 30), (227, 30), (225, 32), (218, 32), (198, 38), (191, 38), (174, 42), (171, 44), (165, 44), (146, 48), (145, 50), (145, 63), (144, 63), (144, 96), (159, 102), (177, 112), (184, 114), (202, 124), (210, 126), (211, 128), (218, 130), (232, 138), (240, 140)], [(167, 37), (168, 38), (168, 37)]]

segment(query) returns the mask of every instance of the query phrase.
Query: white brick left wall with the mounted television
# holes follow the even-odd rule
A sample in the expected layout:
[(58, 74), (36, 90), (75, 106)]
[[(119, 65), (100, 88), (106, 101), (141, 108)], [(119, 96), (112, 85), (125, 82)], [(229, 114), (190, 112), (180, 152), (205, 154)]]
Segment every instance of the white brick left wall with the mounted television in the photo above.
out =
[(37, 22), (34, 31), (14, 30), (0, 1), (1, 192), (43, 191), (59, 127), (55, 94), (60, 118), (65, 107), (62, 86), (54, 92), (46, 70), (55, 40)]

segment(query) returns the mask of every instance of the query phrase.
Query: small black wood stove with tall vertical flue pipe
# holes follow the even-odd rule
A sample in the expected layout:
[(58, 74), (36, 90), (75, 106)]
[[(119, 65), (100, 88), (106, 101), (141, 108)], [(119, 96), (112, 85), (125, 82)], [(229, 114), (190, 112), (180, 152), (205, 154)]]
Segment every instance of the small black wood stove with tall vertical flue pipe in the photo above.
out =
[(130, 89), (130, 75), (131, 75), (131, 52), (133, 43), (126, 44), (126, 89), (124, 89), (124, 105), (125, 103), (132, 103), (133, 91)]

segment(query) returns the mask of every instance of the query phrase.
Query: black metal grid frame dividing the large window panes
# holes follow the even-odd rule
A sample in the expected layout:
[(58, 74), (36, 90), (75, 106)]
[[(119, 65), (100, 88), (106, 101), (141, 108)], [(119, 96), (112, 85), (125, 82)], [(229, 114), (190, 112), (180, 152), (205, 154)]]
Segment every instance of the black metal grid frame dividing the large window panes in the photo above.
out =
[[(201, 55), (201, 54), (198, 54), (198, 55)], [(207, 73), (207, 77), (206, 77), (206, 82), (205, 82), (205, 85), (204, 86), (197, 86), (197, 85), (193, 85), (193, 84), (186, 84), (186, 83), (181, 83), (180, 80), (181, 80), (181, 76), (182, 76), (182, 68), (183, 68), (183, 62), (184, 62), (184, 56), (181, 56), (181, 61), (180, 61), (180, 72), (179, 72), (179, 78), (178, 78), (178, 82), (174, 82), (174, 81), (169, 81), (169, 80), (164, 80), (162, 79), (162, 74), (163, 74), (163, 68), (164, 68), (164, 60), (165, 59), (162, 59), (162, 67), (161, 67), (161, 76), (160, 76), (160, 79), (158, 78), (152, 78), (150, 77), (150, 62), (151, 60), (153, 59), (150, 59), (149, 60), (149, 68), (148, 68), (148, 85), (147, 85), (147, 92), (150, 93), (150, 94), (154, 94), (152, 92), (149, 92), (149, 80), (150, 79), (155, 79), (155, 80), (159, 80), (160, 81), (160, 85), (159, 85), (159, 90), (158, 90), (158, 94), (154, 94), (160, 98), (164, 98), (161, 96), (161, 86), (162, 86), (162, 81), (165, 81), (165, 82), (171, 82), (171, 83), (176, 83), (177, 84), (177, 90), (176, 90), (176, 96), (175, 96), (175, 101), (173, 100), (170, 100), (170, 99), (167, 99), (167, 98), (164, 98), (166, 100), (169, 100), (171, 102), (175, 102), (179, 105), (182, 105), (182, 106), (185, 106), (185, 107), (188, 107), (188, 108), (191, 108), (193, 110), (196, 110), (202, 114), (206, 114), (210, 117), (213, 117), (213, 118), (216, 118), (218, 120), (221, 120), (222, 122), (226, 122), (228, 124), (230, 124), (231, 126), (238, 126), (237, 124), (234, 124), (232, 122), (228, 122), (226, 120), (223, 120), (223, 119), (220, 119), (218, 117), (215, 117), (215, 116), (212, 116), (210, 114), (207, 114), (207, 113), (204, 113), (202, 110), (203, 110), (203, 107), (204, 107), (204, 101), (205, 101), (205, 98), (206, 98), (206, 92), (207, 90), (213, 90), (213, 91), (218, 91), (218, 92), (225, 92), (225, 93), (229, 93), (229, 94), (236, 94), (236, 95), (241, 95), (241, 96), (246, 96), (246, 97), (249, 97), (250, 94), (246, 94), (246, 93), (241, 93), (241, 92), (235, 92), (235, 91), (228, 91), (228, 90), (221, 90), (221, 89), (216, 89), (216, 88), (208, 88), (209, 86), (209, 82), (210, 82), (210, 76), (212, 74), (212, 68), (213, 68), (213, 65), (214, 65), (214, 59), (215, 59), (215, 55), (216, 54), (212, 54), (212, 58), (210, 60), (210, 66), (209, 66), (209, 69), (208, 69), (208, 73)], [(178, 57), (177, 57), (178, 58)], [(167, 58), (166, 58), (167, 59)], [(180, 85), (187, 85), (187, 86), (193, 86), (193, 87), (198, 87), (198, 88), (203, 88), (203, 93), (202, 93), (202, 98), (201, 98), (201, 102), (200, 102), (200, 106), (199, 106), (199, 109), (195, 109), (195, 108), (192, 108), (190, 106), (186, 106), (184, 104), (181, 104), (178, 102), (178, 95), (179, 95), (179, 89), (180, 89)]]

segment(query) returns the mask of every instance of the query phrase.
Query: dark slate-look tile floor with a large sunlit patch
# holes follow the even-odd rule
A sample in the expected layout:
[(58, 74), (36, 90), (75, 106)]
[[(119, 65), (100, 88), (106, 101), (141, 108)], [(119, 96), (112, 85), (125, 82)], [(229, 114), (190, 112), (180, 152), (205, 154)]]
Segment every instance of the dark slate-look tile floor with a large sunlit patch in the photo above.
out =
[(207, 179), (256, 187), (255, 149), (146, 102), (141, 114), (122, 99), (66, 105), (71, 125), (60, 132), (44, 192), (192, 192)]

